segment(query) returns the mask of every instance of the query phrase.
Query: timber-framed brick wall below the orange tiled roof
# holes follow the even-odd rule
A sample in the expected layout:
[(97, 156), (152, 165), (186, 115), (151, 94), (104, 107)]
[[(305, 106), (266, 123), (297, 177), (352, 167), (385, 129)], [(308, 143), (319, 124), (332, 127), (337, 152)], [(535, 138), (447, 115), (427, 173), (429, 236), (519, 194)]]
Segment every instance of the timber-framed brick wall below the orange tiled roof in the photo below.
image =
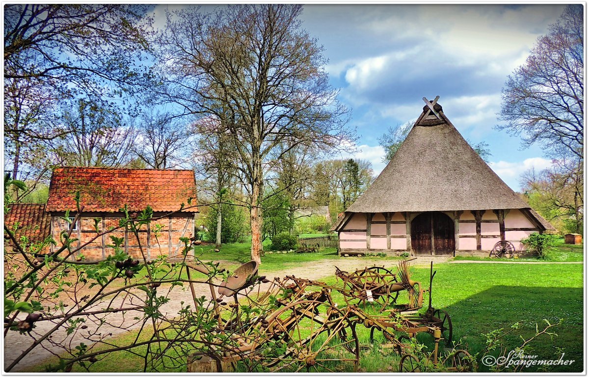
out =
[[(74, 214), (70, 215), (71, 217)], [(113, 248), (107, 247), (112, 245), (110, 236), (124, 238), (121, 245), (131, 257), (153, 259), (160, 255), (168, 257), (178, 257), (183, 249), (181, 237), (194, 236), (194, 216), (193, 214), (177, 215), (173, 217), (164, 217), (150, 222), (150, 227), (141, 227), (137, 236), (132, 231), (119, 229), (111, 231), (104, 236), (98, 236), (95, 228), (95, 218), (100, 218), (98, 230), (100, 233), (111, 230), (119, 226), (120, 216), (113, 216), (111, 213), (91, 214), (91, 216), (80, 217), (80, 224), (77, 230), (72, 232), (72, 238), (77, 238), (73, 246), (78, 247), (81, 244), (90, 243), (82, 248), (82, 255), (87, 260), (102, 260), (113, 253)], [(51, 234), (59, 248), (59, 234), (62, 230), (67, 230), (69, 225), (58, 215), (51, 216)], [(97, 237), (98, 236), (98, 237)], [(92, 240), (94, 239), (94, 240)], [(140, 248), (141, 246), (141, 248)]]

